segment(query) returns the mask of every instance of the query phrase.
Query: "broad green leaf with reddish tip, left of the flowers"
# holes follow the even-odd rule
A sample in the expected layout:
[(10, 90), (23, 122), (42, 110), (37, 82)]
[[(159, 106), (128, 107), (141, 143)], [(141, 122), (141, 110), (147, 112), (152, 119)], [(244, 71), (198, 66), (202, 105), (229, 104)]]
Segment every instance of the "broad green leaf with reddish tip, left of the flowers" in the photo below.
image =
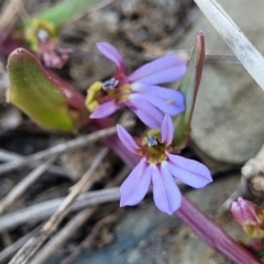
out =
[(45, 129), (76, 131), (65, 95), (32, 53), (24, 48), (13, 51), (8, 58), (8, 101)]

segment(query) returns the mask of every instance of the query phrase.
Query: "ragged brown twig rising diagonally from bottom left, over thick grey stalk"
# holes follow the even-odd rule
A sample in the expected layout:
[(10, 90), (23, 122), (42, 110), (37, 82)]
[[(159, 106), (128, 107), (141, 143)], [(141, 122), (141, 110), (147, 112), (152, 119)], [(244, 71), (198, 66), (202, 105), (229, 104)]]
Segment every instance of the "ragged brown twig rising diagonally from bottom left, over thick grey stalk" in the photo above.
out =
[(10, 264), (25, 264), (29, 258), (41, 248), (45, 240), (56, 230), (62, 220), (69, 212), (69, 207), (73, 205), (74, 200), (86, 189), (88, 189), (95, 182), (92, 178), (94, 173), (101, 164), (102, 158), (107, 154), (107, 148), (100, 151), (100, 153), (95, 158), (91, 167), (82, 176), (82, 178), (73, 186), (69, 195), (61, 204), (56, 212), (50, 218), (50, 220), (44, 224), (41, 231), (30, 239), (22, 249), (16, 253), (16, 255), (10, 261)]

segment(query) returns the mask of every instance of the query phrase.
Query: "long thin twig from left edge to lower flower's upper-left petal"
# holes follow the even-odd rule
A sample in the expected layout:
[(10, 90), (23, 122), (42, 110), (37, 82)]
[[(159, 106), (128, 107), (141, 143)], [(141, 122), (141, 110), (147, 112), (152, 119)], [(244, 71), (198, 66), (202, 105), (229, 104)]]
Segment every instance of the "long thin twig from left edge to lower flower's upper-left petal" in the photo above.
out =
[[(134, 121), (128, 121), (123, 125), (128, 128), (128, 127), (132, 127), (133, 124), (134, 124)], [(108, 135), (112, 135), (112, 134), (116, 133), (116, 131), (117, 131), (116, 127), (103, 129), (103, 130), (100, 130), (100, 131), (96, 131), (96, 132), (90, 133), (88, 135), (80, 136), (78, 139), (58, 144), (56, 146), (52, 146), (52, 147), (50, 147), (45, 151), (37, 152), (33, 155), (24, 157), (23, 160), (19, 160), (19, 161), (14, 161), (12, 163), (7, 163), (7, 164), (3, 164), (3, 165), (0, 165), (0, 174), (10, 172), (14, 168), (19, 168), (19, 167), (22, 167), (24, 165), (32, 164), (32, 163), (34, 163), (38, 160), (43, 160), (43, 158), (46, 158), (46, 157), (52, 157), (52, 156), (57, 155), (57, 154), (62, 154), (66, 151), (76, 150), (80, 146), (84, 146), (84, 145), (87, 145), (87, 144), (92, 143), (95, 141), (98, 141), (98, 140), (100, 140), (102, 138), (106, 138)]]

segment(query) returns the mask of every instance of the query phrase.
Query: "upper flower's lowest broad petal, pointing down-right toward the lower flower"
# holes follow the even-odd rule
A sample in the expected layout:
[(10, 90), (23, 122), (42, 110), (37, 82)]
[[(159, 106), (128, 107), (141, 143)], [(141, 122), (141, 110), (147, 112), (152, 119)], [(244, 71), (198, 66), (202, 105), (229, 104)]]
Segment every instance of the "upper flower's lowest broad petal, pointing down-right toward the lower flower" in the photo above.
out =
[(131, 95), (125, 105), (139, 117), (139, 119), (151, 129), (158, 129), (162, 125), (164, 114), (144, 98)]

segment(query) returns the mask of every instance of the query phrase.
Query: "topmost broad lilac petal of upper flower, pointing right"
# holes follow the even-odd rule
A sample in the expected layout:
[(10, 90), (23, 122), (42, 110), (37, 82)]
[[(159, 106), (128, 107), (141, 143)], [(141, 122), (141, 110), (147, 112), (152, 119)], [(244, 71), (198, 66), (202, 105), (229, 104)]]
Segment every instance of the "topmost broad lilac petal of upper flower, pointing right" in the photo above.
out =
[(143, 65), (129, 76), (130, 82), (155, 85), (175, 81), (186, 73), (186, 62), (176, 55), (166, 55)]

